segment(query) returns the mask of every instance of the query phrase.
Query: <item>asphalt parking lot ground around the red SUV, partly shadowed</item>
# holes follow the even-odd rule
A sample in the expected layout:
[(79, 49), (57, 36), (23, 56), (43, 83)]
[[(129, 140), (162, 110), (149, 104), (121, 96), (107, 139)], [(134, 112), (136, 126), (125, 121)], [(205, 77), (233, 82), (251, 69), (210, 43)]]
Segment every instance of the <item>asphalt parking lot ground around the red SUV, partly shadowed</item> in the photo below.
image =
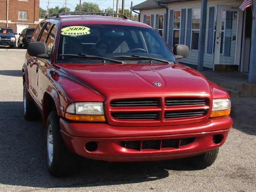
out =
[(103, 162), (80, 158), (78, 172), (54, 178), (46, 167), (42, 121), (23, 118), (26, 50), (0, 48), (0, 192), (256, 191), (256, 98), (231, 98), (234, 125), (216, 162), (193, 170), (183, 160)]

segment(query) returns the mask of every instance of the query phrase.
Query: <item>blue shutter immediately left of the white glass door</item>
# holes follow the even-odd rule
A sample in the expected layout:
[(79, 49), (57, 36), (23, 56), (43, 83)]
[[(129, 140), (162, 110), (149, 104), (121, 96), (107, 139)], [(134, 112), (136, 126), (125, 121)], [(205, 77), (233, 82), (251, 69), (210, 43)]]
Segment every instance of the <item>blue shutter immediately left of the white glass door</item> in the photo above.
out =
[(212, 54), (212, 46), (213, 46), (214, 12), (215, 12), (215, 7), (210, 7), (209, 8), (208, 43), (207, 43), (207, 53), (209, 54)]

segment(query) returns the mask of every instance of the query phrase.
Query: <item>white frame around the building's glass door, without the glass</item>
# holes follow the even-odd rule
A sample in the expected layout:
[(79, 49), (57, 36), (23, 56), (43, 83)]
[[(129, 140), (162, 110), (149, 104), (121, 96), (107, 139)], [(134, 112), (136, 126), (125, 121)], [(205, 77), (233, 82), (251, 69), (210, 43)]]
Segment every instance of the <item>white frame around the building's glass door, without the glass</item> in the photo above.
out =
[[(220, 64), (220, 40), (221, 40), (221, 25), (222, 25), (222, 11), (237, 12), (237, 28), (236, 28), (236, 50), (234, 63), (225, 63), (226, 65), (239, 65), (241, 56), (241, 41), (242, 41), (242, 18), (243, 12), (238, 8), (227, 5), (217, 6), (217, 20), (216, 20), (216, 36), (215, 36), (215, 50), (214, 50), (214, 66)], [(213, 66), (213, 69), (214, 69)]]

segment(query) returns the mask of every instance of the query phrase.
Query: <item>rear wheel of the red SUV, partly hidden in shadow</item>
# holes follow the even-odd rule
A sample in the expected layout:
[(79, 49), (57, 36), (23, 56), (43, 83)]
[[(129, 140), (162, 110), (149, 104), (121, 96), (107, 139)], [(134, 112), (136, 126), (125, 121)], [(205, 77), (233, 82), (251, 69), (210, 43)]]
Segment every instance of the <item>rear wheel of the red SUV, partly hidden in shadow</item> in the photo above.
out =
[(39, 119), (40, 113), (38, 112), (33, 100), (28, 96), (25, 81), (23, 82), (23, 109), (24, 118), (26, 120), (35, 121)]

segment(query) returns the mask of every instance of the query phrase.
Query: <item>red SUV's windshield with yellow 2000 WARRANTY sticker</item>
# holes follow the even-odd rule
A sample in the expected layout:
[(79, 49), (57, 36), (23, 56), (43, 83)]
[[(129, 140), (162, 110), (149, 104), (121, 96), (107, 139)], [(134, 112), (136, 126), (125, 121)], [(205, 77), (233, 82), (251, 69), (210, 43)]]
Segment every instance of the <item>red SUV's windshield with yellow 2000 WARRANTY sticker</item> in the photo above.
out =
[[(114, 58), (126, 63), (148, 62), (149, 59), (146, 59), (146, 57), (170, 62), (175, 61), (164, 40), (152, 28), (126, 25), (86, 24), (63, 26), (58, 46), (58, 62), (99, 62), (96, 58), (74, 57), (68, 56), (68, 54), (88, 54), (103, 58)], [(143, 56), (144, 58), (131, 57), (134, 55)], [(161, 63), (159, 60), (150, 62)]]

